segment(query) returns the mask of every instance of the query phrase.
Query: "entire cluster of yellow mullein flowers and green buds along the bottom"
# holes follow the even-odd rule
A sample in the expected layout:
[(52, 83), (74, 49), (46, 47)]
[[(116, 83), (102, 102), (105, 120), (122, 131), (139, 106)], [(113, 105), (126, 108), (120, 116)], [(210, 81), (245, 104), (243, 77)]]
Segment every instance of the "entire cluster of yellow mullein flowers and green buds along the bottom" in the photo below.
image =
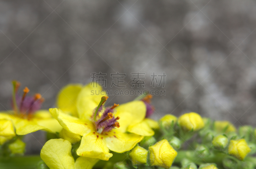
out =
[(39, 110), (42, 96), (27, 96), (28, 88), (19, 96), (19, 87), (14, 81), (13, 110), (0, 113), (0, 156), (23, 154), (21, 136), (45, 130), (48, 141), (35, 166), (41, 169), (256, 167), (256, 130), (251, 126), (237, 131), (228, 121), (196, 112), (166, 114), (155, 121), (149, 118), (155, 110), (152, 96), (107, 106), (106, 93), (91, 95), (102, 90), (97, 84), (69, 84), (60, 90), (56, 108)]

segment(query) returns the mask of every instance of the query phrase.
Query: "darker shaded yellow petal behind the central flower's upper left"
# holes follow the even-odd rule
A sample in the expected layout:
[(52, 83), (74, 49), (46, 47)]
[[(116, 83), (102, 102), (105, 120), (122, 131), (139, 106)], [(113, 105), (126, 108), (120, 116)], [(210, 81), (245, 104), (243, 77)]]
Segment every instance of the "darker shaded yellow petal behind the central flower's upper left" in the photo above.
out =
[(61, 88), (57, 96), (57, 106), (64, 112), (71, 112), (77, 117), (76, 99), (82, 89), (81, 84), (69, 84)]

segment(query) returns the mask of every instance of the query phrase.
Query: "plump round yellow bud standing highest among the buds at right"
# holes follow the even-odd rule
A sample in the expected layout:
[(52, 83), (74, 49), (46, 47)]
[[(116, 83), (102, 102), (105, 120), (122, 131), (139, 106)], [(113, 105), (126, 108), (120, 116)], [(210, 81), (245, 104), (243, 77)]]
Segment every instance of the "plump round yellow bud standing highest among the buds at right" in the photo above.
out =
[(202, 117), (195, 112), (181, 115), (178, 119), (178, 124), (185, 131), (197, 131), (204, 127), (204, 121)]

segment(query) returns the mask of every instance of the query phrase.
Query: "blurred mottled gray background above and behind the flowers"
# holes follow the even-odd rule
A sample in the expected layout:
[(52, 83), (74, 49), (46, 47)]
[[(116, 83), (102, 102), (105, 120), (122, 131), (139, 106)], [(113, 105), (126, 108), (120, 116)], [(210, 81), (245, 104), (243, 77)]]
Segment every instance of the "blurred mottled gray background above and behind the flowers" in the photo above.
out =
[[(91, 73), (107, 73), (109, 90), (120, 89), (110, 73), (126, 73), (130, 90), (140, 72), (145, 89), (166, 90), (153, 97), (154, 119), (195, 111), (256, 127), (255, 28), (254, 0), (0, 0), (0, 110), (11, 109), (13, 79), (48, 109), (60, 88)], [(153, 72), (165, 72), (164, 88), (150, 86)], [(40, 151), (42, 135), (26, 136), (28, 153)]]

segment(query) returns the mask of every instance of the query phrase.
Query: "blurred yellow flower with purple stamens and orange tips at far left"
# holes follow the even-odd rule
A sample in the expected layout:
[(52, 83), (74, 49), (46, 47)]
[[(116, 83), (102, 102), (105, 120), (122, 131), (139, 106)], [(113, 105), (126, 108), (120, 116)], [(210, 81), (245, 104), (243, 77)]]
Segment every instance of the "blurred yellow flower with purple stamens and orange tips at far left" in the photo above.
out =
[(12, 121), (16, 134), (25, 135), (37, 130), (60, 132), (61, 126), (52, 118), (48, 111), (39, 110), (44, 101), (40, 94), (27, 96), (29, 89), (23, 90), (23, 95), (18, 95), (20, 83), (13, 81), (12, 108), (13, 111), (1, 112), (0, 119)]

